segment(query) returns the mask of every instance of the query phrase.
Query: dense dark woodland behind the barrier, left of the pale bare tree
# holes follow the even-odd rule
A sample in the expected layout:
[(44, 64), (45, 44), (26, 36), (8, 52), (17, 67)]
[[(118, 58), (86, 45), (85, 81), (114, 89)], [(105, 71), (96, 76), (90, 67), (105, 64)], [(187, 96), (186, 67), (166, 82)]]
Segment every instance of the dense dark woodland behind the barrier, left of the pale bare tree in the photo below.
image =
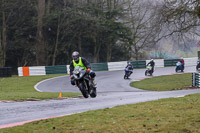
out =
[(67, 64), (74, 50), (90, 62), (127, 58), (130, 30), (122, 21), (123, 0), (0, 2), (6, 4), (0, 9), (0, 58), (6, 44), (6, 66)]

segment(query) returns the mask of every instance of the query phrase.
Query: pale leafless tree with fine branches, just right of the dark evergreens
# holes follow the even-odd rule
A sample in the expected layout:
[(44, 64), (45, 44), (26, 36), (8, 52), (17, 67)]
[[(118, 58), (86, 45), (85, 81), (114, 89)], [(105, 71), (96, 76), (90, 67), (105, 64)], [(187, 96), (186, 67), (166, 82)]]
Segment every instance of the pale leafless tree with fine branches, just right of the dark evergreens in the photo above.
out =
[(126, 23), (132, 31), (131, 56), (138, 60), (143, 51), (155, 46), (159, 40), (160, 27), (157, 25), (158, 7), (151, 1), (128, 0)]

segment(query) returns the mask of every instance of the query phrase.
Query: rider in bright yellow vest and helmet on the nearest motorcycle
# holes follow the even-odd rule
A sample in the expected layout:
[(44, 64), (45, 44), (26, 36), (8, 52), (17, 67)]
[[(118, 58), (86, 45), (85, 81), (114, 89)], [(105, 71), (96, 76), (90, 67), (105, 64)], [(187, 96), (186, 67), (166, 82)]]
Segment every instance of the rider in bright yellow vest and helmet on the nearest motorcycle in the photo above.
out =
[(96, 86), (96, 83), (94, 82), (94, 78), (96, 76), (95, 72), (91, 70), (90, 63), (84, 58), (84, 57), (79, 57), (79, 53), (77, 51), (74, 51), (72, 53), (72, 58), (73, 60), (70, 63), (70, 78), (71, 78), (71, 84), (75, 85), (74, 79), (73, 79), (73, 71), (75, 66), (81, 66), (84, 67), (84, 70), (89, 73), (91, 77), (91, 82), (93, 86)]

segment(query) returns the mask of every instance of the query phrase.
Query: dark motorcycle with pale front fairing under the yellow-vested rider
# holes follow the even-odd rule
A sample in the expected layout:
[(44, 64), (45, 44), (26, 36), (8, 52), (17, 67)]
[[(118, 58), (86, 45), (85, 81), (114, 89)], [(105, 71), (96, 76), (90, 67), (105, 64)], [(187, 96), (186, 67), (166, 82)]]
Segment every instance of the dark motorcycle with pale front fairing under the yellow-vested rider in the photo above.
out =
[(74, 68), (73, 79), (83, 97), (88, 98), (90, 96), (94, 98), (97, 96), (96, 87), (92, 85), (91, 77), (83, 67), (76, 66)]

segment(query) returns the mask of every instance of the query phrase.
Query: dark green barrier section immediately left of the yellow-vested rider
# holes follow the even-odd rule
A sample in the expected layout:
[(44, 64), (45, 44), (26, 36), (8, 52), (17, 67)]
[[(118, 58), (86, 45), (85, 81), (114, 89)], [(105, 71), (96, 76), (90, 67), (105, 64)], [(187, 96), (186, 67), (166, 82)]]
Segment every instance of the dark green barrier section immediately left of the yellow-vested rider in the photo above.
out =
[(46, 74), (67, 74), (67, 66), (45, 66)]

